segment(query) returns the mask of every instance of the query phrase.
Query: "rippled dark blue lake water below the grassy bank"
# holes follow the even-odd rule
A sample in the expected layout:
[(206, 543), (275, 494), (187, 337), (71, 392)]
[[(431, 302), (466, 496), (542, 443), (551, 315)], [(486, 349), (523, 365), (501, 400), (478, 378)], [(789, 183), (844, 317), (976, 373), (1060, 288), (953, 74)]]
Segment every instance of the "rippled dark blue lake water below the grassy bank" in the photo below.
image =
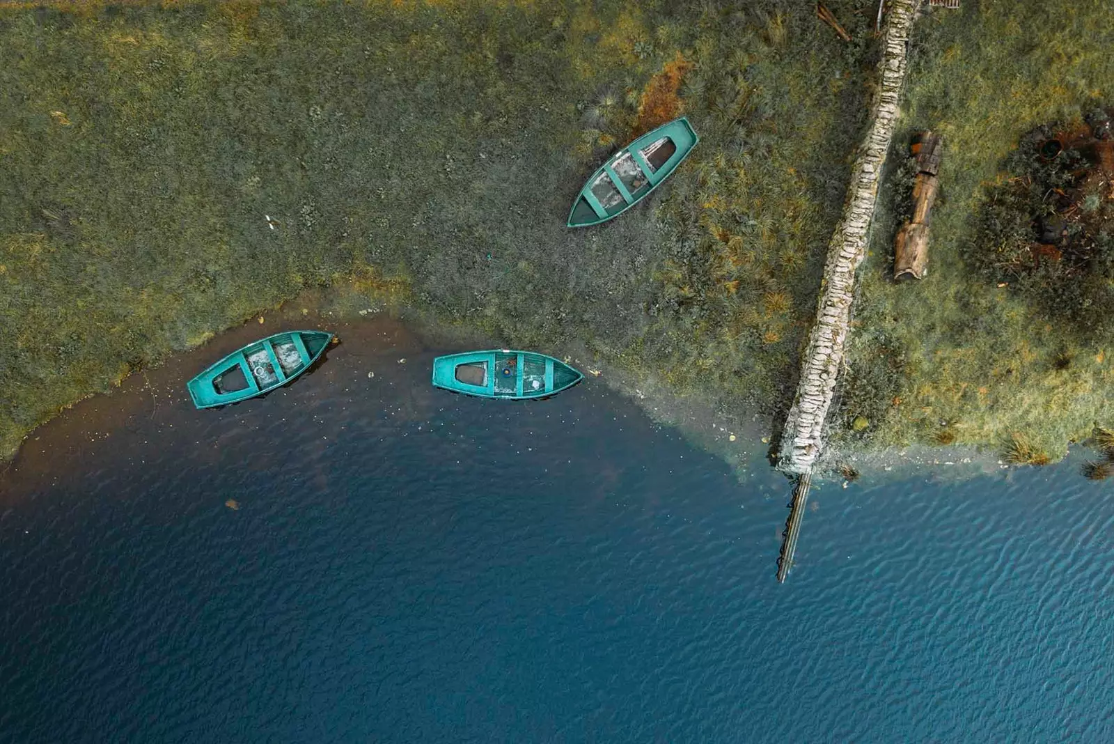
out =
[(761, 462), (590, 380), (441, 394), (432, 356), (139, 417), (8, 495), (0, 742), (1114, 741), (1076, 468), (821, 486), (781, 586)]

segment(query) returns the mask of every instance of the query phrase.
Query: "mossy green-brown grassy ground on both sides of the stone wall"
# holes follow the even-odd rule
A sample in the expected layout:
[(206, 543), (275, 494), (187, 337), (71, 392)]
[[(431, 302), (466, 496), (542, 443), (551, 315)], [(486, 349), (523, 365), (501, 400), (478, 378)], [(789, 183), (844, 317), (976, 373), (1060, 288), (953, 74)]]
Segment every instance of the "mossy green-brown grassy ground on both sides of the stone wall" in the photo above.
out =
[[(0, 453), (129, 370), (339, 283), (775, 412), (874, 77), (877, 3), (827, 4), (852, 42), (789, 0), (0, 9)], [(888, 280), (898, 157), (836, 434), (1055, 456), (1108, 421), (1114, 339), (971, 254), (1019, 138), (1114, 96), (1114, 17), (964, 4), (918, 21), (895, 140), (947, 138), (930, 274)], [(702, 141), (671, 182), (566, 229), (599, 161), (678, 112)]]

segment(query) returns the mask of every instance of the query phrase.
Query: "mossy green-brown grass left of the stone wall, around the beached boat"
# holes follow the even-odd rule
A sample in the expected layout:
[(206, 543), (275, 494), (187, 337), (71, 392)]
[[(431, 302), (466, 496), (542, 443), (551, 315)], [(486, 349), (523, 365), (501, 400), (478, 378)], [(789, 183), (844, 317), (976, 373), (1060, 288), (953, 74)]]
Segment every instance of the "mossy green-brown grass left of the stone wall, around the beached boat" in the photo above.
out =
[[(128, 370), (353, 281), (782, 404), (874, 4), (829, 3), (852, 43), (785, 0), (0, 10), (0, 456)], [(649, 204), (565, 229), (663, 111), (694, 123), (693, 157)]]

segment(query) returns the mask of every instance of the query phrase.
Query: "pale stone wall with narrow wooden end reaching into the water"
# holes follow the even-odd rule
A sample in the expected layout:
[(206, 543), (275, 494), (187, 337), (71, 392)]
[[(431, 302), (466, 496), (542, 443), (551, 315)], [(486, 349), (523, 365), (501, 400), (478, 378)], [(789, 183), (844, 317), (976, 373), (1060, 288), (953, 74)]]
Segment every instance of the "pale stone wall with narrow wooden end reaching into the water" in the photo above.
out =
[(784, 581), (793, 565), (812, 468), (823, 448), (824, 424), (836, 394), (836, 381), (843, 364), (851, 322), (856, 270), (867, 254), (878, 184), (899, 116), (898, 102), (906, 76), (909, 33), (919, 2), (890, 0), (882, 30), (879, 84), (871, 101), (870, 124), (851, 169), (843, 215), (828, 244), (817, 316), (809, 333), (797, 393), (781, 437), (778, 467), (797, 476), (798, 482), (779, 560), (780, 581)]

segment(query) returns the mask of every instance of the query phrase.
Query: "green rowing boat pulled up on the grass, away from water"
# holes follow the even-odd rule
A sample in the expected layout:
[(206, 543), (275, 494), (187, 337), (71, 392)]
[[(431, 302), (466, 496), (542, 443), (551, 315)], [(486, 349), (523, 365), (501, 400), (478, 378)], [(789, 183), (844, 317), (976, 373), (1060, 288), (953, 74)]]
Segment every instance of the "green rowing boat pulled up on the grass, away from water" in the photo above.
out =
[(573, 203), (568, 226), (598, 225), (623, 214), (668, 178), (698, 141), (685, 117), (634, 140), (592, 174)]

